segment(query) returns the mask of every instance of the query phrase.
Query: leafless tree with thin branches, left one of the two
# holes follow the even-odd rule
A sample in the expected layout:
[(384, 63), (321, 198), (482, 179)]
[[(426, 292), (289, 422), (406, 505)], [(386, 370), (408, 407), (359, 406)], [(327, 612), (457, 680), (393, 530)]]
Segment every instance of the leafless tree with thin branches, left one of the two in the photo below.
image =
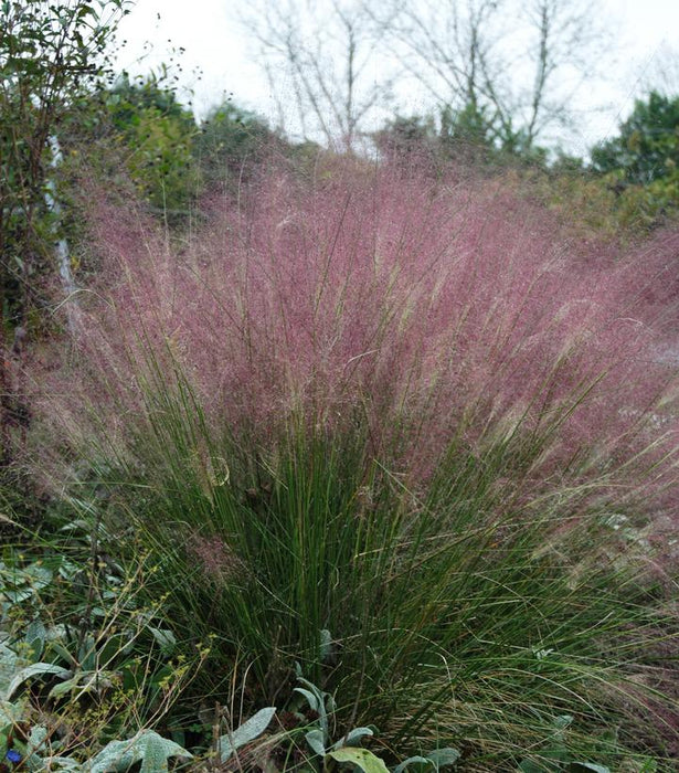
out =
[(293, 118), (303, 137), (352, 150), (391, 85), (384, 67), (378, 74), (380, 35), (365, 3), (255, 0), (241, 20), (257, 42), (279, 128)]

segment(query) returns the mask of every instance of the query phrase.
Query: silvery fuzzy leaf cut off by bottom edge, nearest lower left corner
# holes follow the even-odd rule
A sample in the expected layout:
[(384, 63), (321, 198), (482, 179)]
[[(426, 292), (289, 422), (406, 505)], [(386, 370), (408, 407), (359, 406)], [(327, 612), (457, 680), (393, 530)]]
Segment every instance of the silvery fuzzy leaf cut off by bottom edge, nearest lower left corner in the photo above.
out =
[(127, 741), (110, 741), (85, 766), (87, 773), (126, 771), (141, 761), (141, 773), (163, 773), (171, 756), (193, 756), (179, 743), (162, 738), (153, 730), (142, 730)]

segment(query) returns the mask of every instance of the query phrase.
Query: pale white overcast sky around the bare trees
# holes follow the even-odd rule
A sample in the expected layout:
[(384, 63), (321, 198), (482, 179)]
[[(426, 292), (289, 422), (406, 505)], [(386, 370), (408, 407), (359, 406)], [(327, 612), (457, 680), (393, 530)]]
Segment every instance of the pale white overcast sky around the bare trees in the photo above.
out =
[[(275, 106), (266, 81), (248, 55), (248, 42), (235, 24), (234, 9), (243, 0), (137, 0), (119, 28), (118, 40), (127, 40), (119, 65), (132, 74), (146, 74), (160, 62), (177, 57), (182, 86), (194, 95), (200, 116), (210, 106), (232, 96), (236, 105), (253, 109), (272, 121)], [(276, 2), (277, 0), (270, 0)], [(609, 82), (596, 93), (587, 85), (575, 95), (585, 119), (565, 139), (569, 149), (584, 155), (596, 140), (616, 133), (670, 50), (679, 52), (679, 0), (598, 0), (603, 19), (617, 30), (617, 61)], [(145, 46), (145, 43), (147, 44)], [(150, 52), (148, 43), (151, 44)], [(679, 53), (675, 62), (675, 89), (679, 93)], [(198, 72), (202, 73), (201, 78)], [(426, 112), (428, 105), (407, 105), (404, 113)], [(590, 114), (590, 108), (600, 107)]]

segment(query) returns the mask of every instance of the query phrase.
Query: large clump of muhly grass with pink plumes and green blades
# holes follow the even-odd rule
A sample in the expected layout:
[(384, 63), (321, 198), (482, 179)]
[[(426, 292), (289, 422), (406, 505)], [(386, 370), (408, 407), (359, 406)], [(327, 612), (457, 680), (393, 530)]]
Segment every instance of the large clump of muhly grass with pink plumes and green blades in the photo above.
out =
[(671, 569), (612, 526), (677, 507), (676, 234), (614, 258), (488, 184), (351, 165), (272, 173), (177, 248), (96, 202), (43, 421), (215, 636), (205, 691), (283, 706), (299, 663), (340, 732), (477, 770), (565, 714), (579, 759), (676, 735), (640, 663), (671, 620), (639, 574)]

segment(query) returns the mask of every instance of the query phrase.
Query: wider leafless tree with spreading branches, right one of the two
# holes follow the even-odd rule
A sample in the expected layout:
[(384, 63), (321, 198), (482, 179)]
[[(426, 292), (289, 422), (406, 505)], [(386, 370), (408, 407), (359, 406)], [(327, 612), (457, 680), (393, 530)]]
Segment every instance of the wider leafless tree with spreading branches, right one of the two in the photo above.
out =
[(588, 0), (393, 0), (388, 14), (395, 52), (439, 106), (527, 148), (567, 120), (605, 38)]

